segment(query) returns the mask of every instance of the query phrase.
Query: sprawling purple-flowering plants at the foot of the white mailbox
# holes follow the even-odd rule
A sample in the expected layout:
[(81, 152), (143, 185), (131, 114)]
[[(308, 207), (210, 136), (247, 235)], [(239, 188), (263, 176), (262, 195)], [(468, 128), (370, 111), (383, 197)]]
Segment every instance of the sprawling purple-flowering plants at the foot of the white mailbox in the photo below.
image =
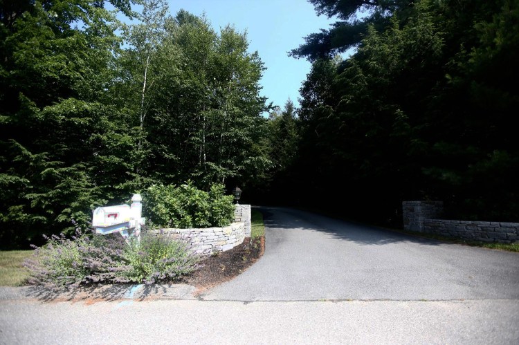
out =
[(127, 244), (119, 234), (107, 236), (76, 231), (47, 238), (24, 265), (28, 283), (48, 287), (88, 283), (156, 283), (176, 280), (199, 268), (200, 257), (182, 241), (141, 234)]

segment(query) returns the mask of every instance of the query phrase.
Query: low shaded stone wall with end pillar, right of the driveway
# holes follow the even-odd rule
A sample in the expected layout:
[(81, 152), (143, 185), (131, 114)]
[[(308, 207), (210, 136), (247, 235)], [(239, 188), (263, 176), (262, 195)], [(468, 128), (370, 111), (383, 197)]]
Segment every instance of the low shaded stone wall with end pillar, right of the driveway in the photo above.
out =
[[(432, 205), (424, 207), (427, 203)], [(472, 241), (514, 243), (519, 240), (519, 223), (451, 221), (433, 218), (428, 212), (434, 209), (433, 214), (441, 214), (441, 209), (437, 209), (438, 205), (438, 202), (430, 201), (404, 201), (402, 204), (404, 229), (441, 236), (455, 236)], [(422, 210), (425, 210), (425, 214)]]

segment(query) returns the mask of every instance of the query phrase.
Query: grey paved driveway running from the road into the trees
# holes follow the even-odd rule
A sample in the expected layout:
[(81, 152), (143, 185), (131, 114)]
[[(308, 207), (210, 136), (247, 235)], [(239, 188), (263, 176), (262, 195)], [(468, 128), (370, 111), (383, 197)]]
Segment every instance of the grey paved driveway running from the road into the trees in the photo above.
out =
[(204, 299), (519, 299), (519, 254), (264, 207), (262, 259)]

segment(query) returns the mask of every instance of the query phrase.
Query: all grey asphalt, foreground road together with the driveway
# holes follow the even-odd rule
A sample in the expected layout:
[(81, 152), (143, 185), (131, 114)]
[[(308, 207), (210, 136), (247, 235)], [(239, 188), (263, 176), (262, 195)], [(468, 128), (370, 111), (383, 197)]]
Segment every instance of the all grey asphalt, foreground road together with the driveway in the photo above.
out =
[(262, 211), (262, 259), (201, 297), (0, 288), (0, 344), (519, 344), (519, 254)]

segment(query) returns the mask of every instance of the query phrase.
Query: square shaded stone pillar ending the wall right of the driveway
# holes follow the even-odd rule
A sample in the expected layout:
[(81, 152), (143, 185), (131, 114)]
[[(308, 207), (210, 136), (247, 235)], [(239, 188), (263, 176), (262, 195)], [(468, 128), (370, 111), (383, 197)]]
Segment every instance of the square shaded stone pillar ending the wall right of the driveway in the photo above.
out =
[(424, 221), (439, 218), (443, 212), (443, 201), (402, 201), (403, 229), (425, 232)]

